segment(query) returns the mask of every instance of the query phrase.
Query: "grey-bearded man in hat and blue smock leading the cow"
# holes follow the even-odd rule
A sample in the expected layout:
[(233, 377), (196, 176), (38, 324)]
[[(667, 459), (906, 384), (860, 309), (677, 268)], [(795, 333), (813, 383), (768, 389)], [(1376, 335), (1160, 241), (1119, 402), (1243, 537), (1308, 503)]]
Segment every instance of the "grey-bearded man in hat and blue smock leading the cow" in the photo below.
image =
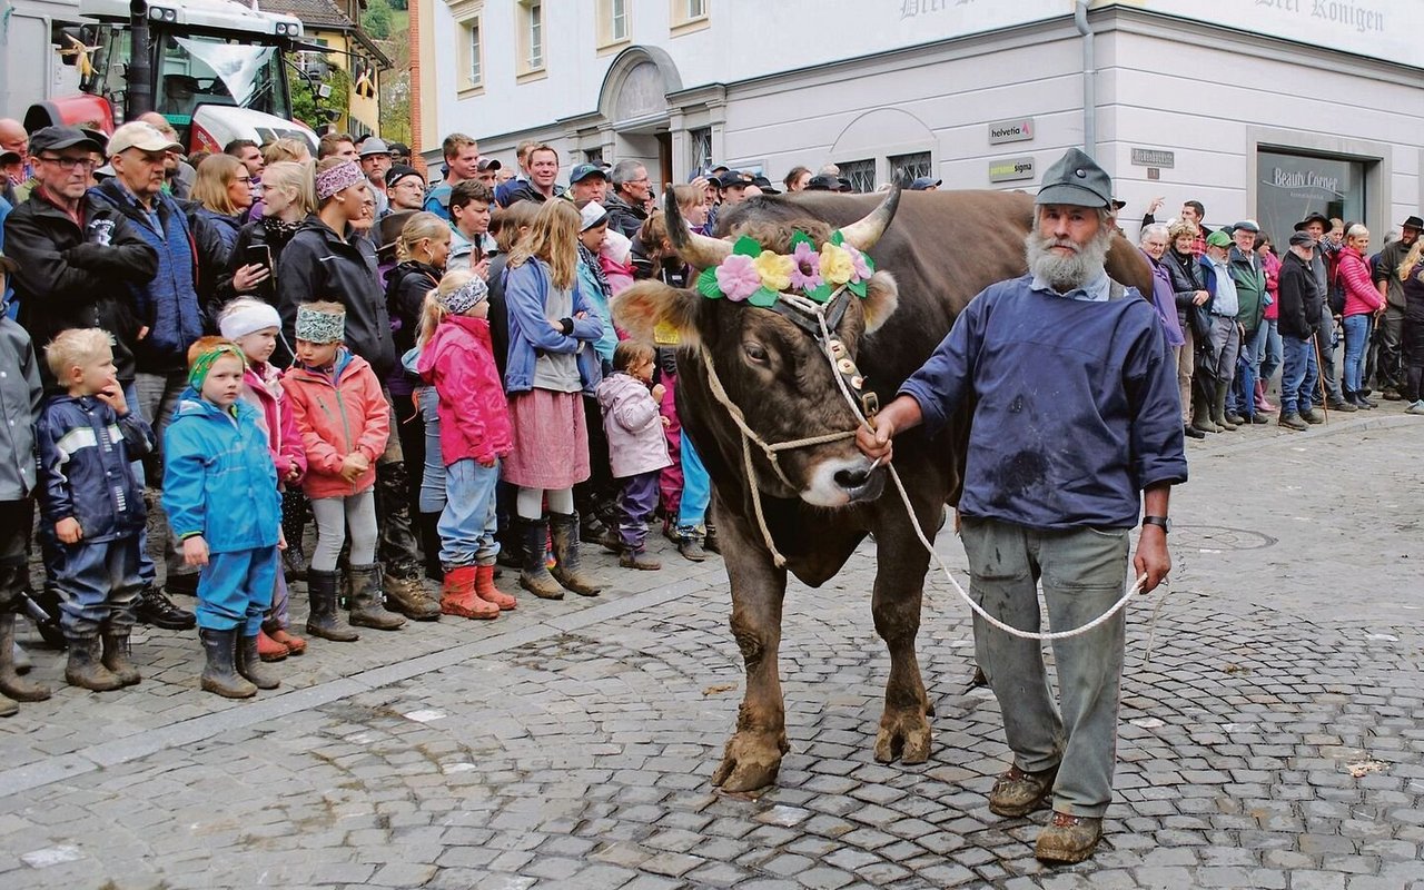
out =
[[(1106, 612), (1132, 560), (1153, 590), (1168, 557), (1168, 498), (1186, 481), (1176, 369), (1152, 303), (1104, 268), (1115, 234), (1112, 182), (1069, 150), (1044, 178), (1028, 275), (991, 285), (857, 444), (891, 457), (891, 437), (940, 433), (970, 400), (961, 537), (970, 594), (997, 619), (1038, 631), (1042, 580), (1055, 631)], [(1082, 862), (1102, 836), (1116, 760), (1124, 615), (1054, 642), (1055, 703), (1037, 641), (974, 618), (974, 651), (1004, 713), (1012, 766), (988, 807), (1020, 817), (1051, 802), (1037, 856)]]

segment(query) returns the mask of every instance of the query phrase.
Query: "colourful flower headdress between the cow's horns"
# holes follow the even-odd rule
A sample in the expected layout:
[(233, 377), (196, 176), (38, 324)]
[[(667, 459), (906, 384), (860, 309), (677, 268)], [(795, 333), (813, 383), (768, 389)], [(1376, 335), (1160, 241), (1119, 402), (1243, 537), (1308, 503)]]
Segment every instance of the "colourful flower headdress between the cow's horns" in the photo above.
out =
[(854, 245), (846, 242), (840, 229), (816, 248), (805, 232), (795, 232), (790, 253), (776, 253), (749, 235), (732, 245), (732, 252), (721, 263), (698, 275), (696, 289), (708, 299), (746, 300), (760, 309), (770, 309), (782, 293), (805, 295), (826, 303), (836, 290), (844, 288), (860, 299), (876, 272), (876, 263)]

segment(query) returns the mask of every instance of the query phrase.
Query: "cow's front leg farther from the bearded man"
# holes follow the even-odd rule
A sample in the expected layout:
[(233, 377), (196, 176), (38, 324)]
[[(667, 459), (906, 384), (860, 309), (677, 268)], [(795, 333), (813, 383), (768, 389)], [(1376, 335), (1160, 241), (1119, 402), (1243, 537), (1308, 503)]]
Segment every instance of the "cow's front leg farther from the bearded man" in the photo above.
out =
[(749, 792), (776, 780), (786, 742), (786, 709), (776, 652), (782, 642), (786, 570), (776, 568), (740, 517), (718, 510), (718, 531), (732, 582), (732, 635), (746, 664), (746, 695), (736, 733), (726, 743), (712, 785)]

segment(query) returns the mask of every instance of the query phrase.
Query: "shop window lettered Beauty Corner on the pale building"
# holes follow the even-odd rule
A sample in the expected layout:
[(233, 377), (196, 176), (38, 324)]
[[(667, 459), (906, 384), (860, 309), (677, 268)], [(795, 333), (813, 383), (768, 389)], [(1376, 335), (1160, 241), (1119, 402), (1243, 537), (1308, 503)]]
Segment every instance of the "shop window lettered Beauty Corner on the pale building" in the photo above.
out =
[(1280, 148), (1256, 152), (1256, 219), (1263, 232), (1284, 244), (1296, 222), (1310, 214), (1360, 221), (1366, 218), (1364, 161), (1321, 157)]

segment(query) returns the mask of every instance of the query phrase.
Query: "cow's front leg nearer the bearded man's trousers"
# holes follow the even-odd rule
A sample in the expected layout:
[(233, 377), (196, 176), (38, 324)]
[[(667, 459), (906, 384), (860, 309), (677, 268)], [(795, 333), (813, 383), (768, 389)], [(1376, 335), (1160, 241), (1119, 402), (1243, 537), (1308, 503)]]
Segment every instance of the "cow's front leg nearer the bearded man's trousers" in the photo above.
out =
[[(899, 504), (896, 504), (899, 507)], [(899, 513), (899, 518), (891, 518)], [(920, 632), (920, 602), (924, 595), (924, 571), (930, 554), (914, 537), (903, 508), (886, 517), (876, 545), (876, 591), (871, 601), (876, 631), (890, 649), (890, 679), (886, 682), (886, 709), (876, 736), (876, 760), (924, 763), (930, 758), (930, 699), (920, 676), (914, 638)], [(931, 534), (938, 515), (930, 507), (920, 510), (921, 524)], [(930, 518), (933, 517), (933, 518)]]

